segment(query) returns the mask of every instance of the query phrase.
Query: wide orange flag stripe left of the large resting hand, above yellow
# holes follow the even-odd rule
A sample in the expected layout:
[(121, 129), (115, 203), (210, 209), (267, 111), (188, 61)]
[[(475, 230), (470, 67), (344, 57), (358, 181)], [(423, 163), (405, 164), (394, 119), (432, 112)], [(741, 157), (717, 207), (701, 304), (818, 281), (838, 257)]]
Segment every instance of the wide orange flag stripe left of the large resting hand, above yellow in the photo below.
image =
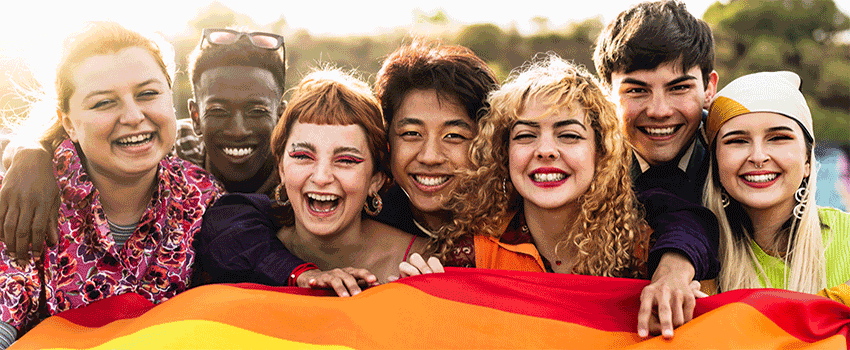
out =
[(55, 347), (56, 339), (64, 340), (62, 347), (92, 348), (116, 336), (181, 320), (213, 321), (289, 341), (352, 348), (562, 348), (578, 339), (578, 347), (611, 348), (640, 341), (633, 333), (605, 332), (449, 301), (403, 284), (372, 288), (351, 298), (212, 285), (189, 290), (135, 319), (99, 328), (50, 318), (33, 332), (50, 334), (53, 345), (31, 332), (27, 340), (32, 346), (21, 349)]

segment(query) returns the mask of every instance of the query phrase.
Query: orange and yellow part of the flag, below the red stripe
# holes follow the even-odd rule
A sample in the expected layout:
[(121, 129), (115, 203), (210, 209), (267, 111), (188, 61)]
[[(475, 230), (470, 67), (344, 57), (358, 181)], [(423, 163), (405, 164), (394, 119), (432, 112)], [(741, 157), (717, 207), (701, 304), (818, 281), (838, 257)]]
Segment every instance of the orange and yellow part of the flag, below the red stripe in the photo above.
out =
[[(730, 327), (732, 320), (734, 327)], [(163, 329), (182, 331), (162, 332)], [(197, 333), (168, 336), (189, 331)], [(128, 344), (148, 348), (220, 348), (225, 343), (219, 336), (204, 336), (213, 333), (232, 334), (235, 340), (256, 346), (309, 344), (351, 348), (840, 348), (847, 341), (841, 335), (816, 343), (801, 341), (743, 303), (706, 313), (678, 329), (673, 340), (658, 337), (641, 341), (631, 332), (601, 331), (510, 313), (434, 297), (404, 284), (390, 284), (344, 299), (205, 286), (187, 291), (139, 317), (99, 328), (53, 317), (16, 345), (22, 349), (123, 348)], [(158, 336), (150, 338), (152, 334)], [(61, 345), (56, 342), (59, 339)]]

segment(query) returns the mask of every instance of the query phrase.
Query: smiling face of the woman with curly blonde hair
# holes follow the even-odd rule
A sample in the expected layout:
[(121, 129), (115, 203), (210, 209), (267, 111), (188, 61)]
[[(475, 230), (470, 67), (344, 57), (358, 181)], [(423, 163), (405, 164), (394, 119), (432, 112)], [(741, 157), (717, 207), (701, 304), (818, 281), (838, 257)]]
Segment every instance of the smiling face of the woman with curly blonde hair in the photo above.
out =
[(574, 204), (590, 187), (596, 140), (584, 110), (573, 109), (553, 111), (533, 100), (511, 129), (511, 182), (526, 207), (558, 210)]

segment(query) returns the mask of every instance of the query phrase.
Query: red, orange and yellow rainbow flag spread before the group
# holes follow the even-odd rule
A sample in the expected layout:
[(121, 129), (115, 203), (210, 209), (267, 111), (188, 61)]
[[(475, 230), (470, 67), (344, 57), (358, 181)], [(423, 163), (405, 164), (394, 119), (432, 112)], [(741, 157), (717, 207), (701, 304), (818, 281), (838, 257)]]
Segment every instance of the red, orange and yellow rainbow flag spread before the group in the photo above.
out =
[[(15, 349), (846, 349), (850, 308), (781, 290), (699, 299), (673, 339), (635, 329), (647, 281), (447, 269), (351, 298), (208, 285), (159, 305), (125, 294), (50, 317)], [(320, 296), (325, 295), (325, 296)]]

